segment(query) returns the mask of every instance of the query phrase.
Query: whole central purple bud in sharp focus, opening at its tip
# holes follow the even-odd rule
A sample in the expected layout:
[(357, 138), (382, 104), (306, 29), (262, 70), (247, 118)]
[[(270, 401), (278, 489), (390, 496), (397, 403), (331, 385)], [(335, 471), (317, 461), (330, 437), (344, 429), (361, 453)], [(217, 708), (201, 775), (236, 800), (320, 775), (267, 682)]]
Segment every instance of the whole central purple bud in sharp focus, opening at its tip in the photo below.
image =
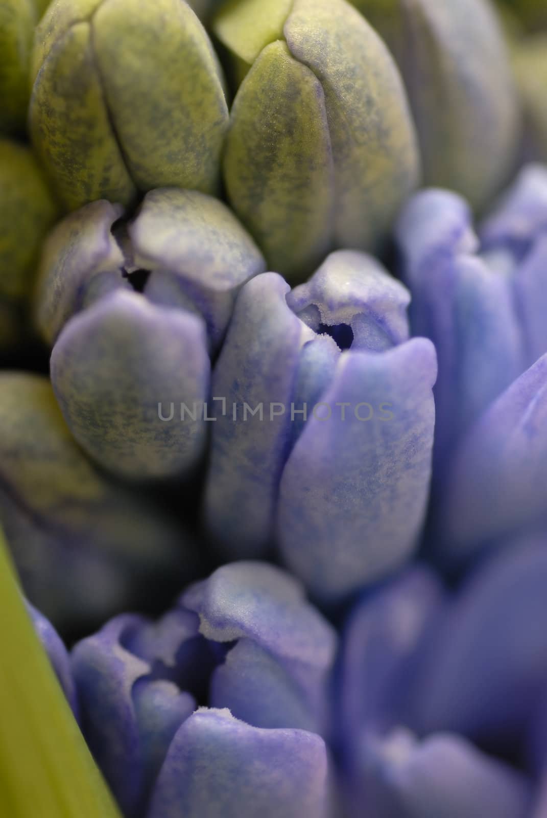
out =
[(410, 557), (437, 363), (426, 339), (408, 339), (408, 302), (355, 251), (331, 254), (292, 291), (275, 273), (244, 285), (213, 371), (204, 497), (204, 524), (226, 556), (277, 544), (324, 600)]

